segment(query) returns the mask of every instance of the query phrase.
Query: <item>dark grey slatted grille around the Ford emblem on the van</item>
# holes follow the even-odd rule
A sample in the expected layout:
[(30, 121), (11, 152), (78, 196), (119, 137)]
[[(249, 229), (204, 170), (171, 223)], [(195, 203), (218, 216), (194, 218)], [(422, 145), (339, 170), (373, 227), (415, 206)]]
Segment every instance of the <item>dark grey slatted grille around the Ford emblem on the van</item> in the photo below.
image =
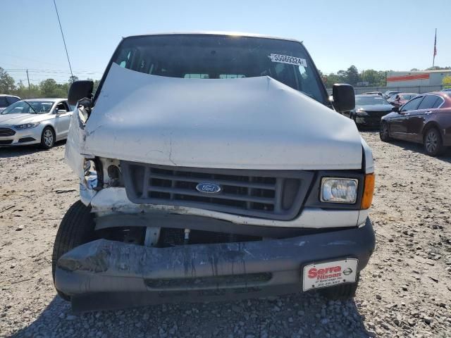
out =
[[(121, 162), (128, 198), (135, 204), (202, 208), (289, 220), (299, 213), (313, 173), (295, 170), (184, 168)], [(197, 191), (207, 182), (217, 194)]]

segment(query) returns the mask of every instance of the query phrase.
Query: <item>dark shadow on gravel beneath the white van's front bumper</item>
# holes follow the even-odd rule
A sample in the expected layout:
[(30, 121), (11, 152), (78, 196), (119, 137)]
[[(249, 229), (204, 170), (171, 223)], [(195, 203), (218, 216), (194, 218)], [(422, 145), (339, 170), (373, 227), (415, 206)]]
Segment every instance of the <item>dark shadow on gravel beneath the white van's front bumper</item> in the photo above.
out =
[(223, 303), (180, 303), (74, 315), (56, 296), (11, 337), (374, 337), (354, 301), (317, 293)]

